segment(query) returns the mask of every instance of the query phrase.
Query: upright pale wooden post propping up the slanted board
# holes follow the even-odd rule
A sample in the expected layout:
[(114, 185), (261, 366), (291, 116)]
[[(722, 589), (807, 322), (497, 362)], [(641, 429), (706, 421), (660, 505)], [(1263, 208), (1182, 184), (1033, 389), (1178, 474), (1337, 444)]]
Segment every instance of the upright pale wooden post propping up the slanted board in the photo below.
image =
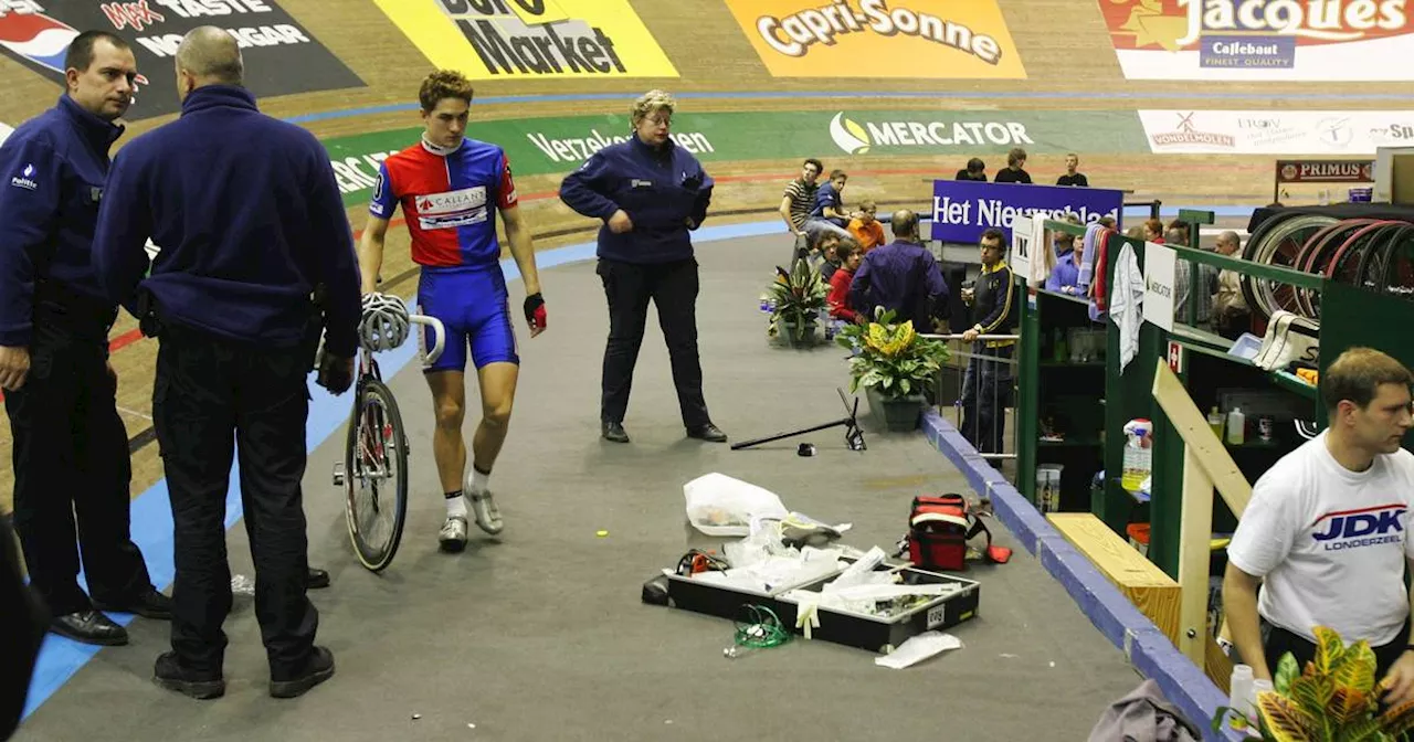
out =
[[(1167, 367), (1167, 366), (1165, 366)], [(1208, 642), (1208, 567), (1213, 537), (1213, 482), (1192, 445), (1184, 447), (1184, 507), (1178, 541), (1178, 649), (1203, 667)]]

